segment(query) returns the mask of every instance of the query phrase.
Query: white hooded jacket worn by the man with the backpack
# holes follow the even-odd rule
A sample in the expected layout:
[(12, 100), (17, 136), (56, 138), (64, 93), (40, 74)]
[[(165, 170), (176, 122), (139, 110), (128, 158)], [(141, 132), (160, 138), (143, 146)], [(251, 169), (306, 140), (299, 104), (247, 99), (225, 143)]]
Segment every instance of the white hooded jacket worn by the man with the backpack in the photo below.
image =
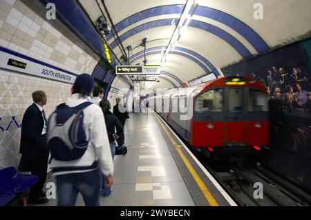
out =
[[(66, 105), (73, 107), (83, 102), (91, 101), (90, 97), (80, 97), (80, 94), (72, 94), (66, 101)], [(58, 161), (51, 159), (50, 168), (53, 175), (89, 172), (99, 166), (107, 177), (113, 175), (113, 159), (111, 156), (110, 142), (106, 131), (104, 115), (100, 106), (92, 104), (84, 108), (84, 126), (86, 126), (86, 138), (89, 139), (88, 148), (84, 155), (74, 161)]]

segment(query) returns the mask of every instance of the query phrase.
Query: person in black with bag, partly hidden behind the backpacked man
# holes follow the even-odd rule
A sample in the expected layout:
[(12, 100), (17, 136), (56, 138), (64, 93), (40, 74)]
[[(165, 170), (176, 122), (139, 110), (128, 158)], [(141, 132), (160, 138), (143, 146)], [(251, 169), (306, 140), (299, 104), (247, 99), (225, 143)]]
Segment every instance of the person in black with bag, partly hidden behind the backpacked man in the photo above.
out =
[[(110, 143), (110, 148), (111, 148), (111, 154), (112, 157), (115, 156), (115, 140), (124, 137), (123, 133), (123, 126), (122, 123), (117, 119), (117, 117), (111, 113), (111, 105), (110, 102), (107, 99), (103, 99), (100, 101), (100, 108), (102, 108), (102, 112), (104, 113), (104, 118), (105, 118), (105, 123), (106, 123), (106, 128), (107, 128), (107, 133), (109, 137), (109, 143)], [(117, 133), (115, 134), (115, 128), (117, 129)], [(104, 197), (109, 197), (111, 194), (111, 188), (107, 187), (104, 185), (104, 182), (106, 181), (106, 177), (104, 174), (102, 174), (102, 195)]]

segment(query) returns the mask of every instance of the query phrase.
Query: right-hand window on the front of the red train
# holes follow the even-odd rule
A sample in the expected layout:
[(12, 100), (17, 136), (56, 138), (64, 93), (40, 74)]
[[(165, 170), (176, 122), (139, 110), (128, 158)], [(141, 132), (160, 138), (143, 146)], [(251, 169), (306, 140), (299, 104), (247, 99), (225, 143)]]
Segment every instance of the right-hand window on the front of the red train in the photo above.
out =
[(247, 100), (247, 111), (249, 112), (267, 112), (269, 111), (267, 97), (261, 90), (249, 90)]

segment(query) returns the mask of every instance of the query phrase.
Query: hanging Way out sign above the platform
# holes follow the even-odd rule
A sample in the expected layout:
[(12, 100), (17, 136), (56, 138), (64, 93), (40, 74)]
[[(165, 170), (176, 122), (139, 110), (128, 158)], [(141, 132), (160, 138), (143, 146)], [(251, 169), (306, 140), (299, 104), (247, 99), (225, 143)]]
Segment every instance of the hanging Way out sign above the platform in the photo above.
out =
[(156, 75), (160, 74), (160, 65), (147, 66), (115, 66), (115, 74), (117, 75)]

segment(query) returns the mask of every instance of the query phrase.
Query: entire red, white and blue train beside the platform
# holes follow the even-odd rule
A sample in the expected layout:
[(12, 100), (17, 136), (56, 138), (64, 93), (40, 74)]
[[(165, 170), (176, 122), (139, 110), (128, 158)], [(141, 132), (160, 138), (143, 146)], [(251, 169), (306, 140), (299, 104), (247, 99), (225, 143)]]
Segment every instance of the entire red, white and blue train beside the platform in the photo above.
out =
[[(250, 78), (216, 79), (158, 95), (153, 101), (164, 120), (195, 148), (221, 154), (248, 154), (269, 145), (265, 88)], [(188, 110), (193, 107), (191, 119), (182, 120), (180, 101), (185, 102)]]

